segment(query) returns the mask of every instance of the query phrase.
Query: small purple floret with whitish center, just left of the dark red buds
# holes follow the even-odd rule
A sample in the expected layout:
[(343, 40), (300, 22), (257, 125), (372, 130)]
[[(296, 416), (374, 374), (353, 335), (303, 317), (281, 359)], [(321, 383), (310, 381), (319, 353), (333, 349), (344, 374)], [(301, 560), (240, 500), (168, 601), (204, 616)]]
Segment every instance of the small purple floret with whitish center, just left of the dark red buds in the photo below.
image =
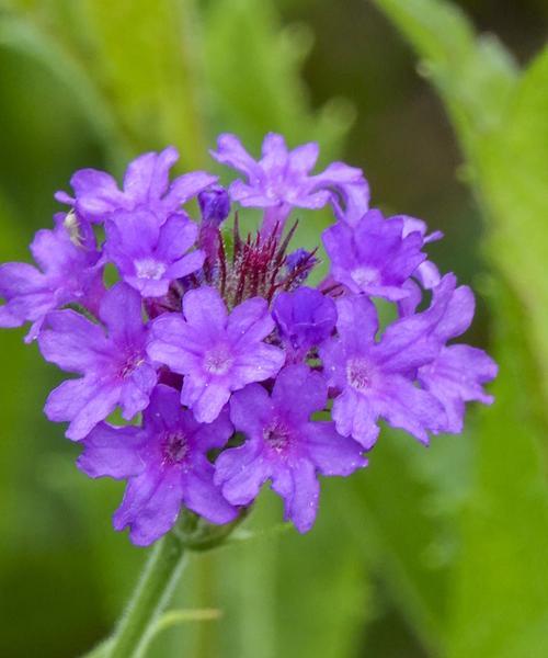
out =
[(170, 283), (204, 263), (204, 252), (185, 254), (194, 245), (197, 226), (176, 213), (160, 226), (150, 211), (117, 212), (106, 222), (106, 254), (124, 281), (144, 297), (168, 294)]

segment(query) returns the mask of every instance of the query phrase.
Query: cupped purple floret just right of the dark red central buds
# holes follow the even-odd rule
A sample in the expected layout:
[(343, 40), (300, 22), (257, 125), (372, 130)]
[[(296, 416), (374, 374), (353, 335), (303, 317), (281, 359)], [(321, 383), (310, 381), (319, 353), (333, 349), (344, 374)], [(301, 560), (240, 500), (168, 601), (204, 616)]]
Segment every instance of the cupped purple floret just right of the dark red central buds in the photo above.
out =
[(355, 226), (335, 224), (322, 234), (331, 259), (331, 279), (352, 293), (366, 293), (392, 302), (409, 296), (403, 285), (426, 256), (423, 237), (413, 231), (403, 237), (403, 220), (385, 219), (380, 211), (368, 211)]

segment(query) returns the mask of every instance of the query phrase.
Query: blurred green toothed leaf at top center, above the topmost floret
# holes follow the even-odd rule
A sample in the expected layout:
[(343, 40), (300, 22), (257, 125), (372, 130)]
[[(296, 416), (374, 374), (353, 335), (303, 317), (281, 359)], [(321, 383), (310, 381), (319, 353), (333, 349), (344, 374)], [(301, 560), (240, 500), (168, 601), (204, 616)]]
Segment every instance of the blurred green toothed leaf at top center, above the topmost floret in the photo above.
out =
[(299, 78), (311, 39), (304, 25), (281, 30), (272, 2), (210, 2), (204, 12), (204, 61), (215, 132), (238, 133), (255, 148), (275, 131), (289, 144), (317, 139), (323, 158), (336, 152), (353, 112), (343, 101), (311, 112)]

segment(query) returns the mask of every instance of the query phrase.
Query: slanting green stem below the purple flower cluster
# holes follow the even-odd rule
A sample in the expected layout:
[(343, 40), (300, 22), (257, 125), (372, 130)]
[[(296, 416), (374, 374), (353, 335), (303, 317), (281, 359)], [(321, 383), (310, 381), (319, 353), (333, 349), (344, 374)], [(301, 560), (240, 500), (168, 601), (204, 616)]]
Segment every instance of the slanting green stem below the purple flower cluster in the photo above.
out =
[(184, 557), (183, 543), (174, 533), (167, 534), (157, 543), (129, 606), (109, 642), (107, 658), (142, 656), (153, 624), (168, 604), (182, 571)]

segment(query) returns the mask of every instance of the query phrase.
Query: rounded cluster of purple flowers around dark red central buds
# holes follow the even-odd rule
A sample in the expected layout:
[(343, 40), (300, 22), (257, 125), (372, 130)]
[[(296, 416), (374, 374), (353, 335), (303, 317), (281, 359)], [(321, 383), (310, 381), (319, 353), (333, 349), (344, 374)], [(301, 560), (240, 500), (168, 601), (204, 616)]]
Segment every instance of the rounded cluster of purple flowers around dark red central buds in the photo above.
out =
[[(76, 378), (45, 412), (81, 442), (90, 477), (127, 481), (114, 515), (135, 544), (167, 533), (183, 509), (226, 524), (270, 481), (300, 532), (316, 518), (318, 476), (366, 466), (379, 421), (423, 443), (460, 432), (465, 404), (492, 401), (496, 365), (447, 344), (473, 316), (473, 296), (441, 275), (423, 222), (369, 208), (361, 170), (311, 174), (318, 146), (288, 150), (267, 135), (254, 160), (233, 135), (213, 156), (238, 170), (225, 190), (192, 172), (170, 182), (176, 151), (132, 162), (123, 190), (84, 169), (59, 192), (67, 213), (31, 246), (38, 268), (0, 266), (0, 327), (31, 322), (27, 340)], [(197, 197), (201, 218), (185, 204)], [(243, 236), (237, 205), (263, 209)], [(289, 250), (294, 208), (330, 206), (330, 269), (306, 285), (316, 251)], [(117, 272), (106, 285), (105, 268)], [(112, 276), (110, 277), (112, 280)], [(379, 324), (374, 299), (397, 319)], [(420, 309), (420, 310), (418, 310)], [(119, 410), (130, 424), (116, 426)]]

